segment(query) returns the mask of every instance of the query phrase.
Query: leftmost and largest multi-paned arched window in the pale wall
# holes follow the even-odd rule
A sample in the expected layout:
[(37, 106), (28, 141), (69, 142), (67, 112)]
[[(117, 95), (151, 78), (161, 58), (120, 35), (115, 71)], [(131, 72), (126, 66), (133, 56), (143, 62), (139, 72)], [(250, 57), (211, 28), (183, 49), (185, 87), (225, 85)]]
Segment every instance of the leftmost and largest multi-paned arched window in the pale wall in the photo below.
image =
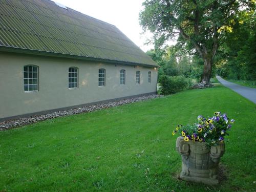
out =
[(38, 91), (37, 66), (24, 66), (24, 91)]

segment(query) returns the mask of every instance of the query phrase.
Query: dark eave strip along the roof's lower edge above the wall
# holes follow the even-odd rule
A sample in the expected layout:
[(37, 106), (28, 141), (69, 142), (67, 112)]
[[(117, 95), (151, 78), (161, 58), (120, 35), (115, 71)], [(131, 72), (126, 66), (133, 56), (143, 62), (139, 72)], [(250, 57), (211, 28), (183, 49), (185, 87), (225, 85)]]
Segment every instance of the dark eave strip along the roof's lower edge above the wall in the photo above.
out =
[(159, 68), (159, 66), (157, 64), (156, 65), (148, 65), (145, 63), (128, 62), (128, 61), (120, 61), (120, 60), (112, 60), (112, 59), (104, 59), (104, 58), (85, 57), (85, 56), (79, 56), (79, 55), (54, 53), (54, 52), (48, 52), (48, 51), (31, 50), (31, 49), (23, 49), (23, 48), (16, 48), (16, 47), (0, 46), (0, 51), (1, 52), (11, 52), (11, 53), (24, 53), (24, 54), (29, 54), (29, 55), (73, 58), (73, 59), (90, 60), (90, 61), (101, 61), (101, 62), (111, 62), (111, 63), (114, 62), (117, 64), (124, 64), (124, 65)]

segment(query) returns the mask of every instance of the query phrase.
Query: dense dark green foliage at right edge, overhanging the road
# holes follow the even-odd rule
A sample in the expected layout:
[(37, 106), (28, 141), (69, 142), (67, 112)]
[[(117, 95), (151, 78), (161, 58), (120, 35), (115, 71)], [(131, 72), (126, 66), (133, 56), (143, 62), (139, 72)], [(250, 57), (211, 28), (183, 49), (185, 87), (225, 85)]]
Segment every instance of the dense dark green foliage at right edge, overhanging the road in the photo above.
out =
[(256, 25), (254, 11), (241, 11), (232, 32), (217, 53), (217, 71), (236, 80), (256, 80)]

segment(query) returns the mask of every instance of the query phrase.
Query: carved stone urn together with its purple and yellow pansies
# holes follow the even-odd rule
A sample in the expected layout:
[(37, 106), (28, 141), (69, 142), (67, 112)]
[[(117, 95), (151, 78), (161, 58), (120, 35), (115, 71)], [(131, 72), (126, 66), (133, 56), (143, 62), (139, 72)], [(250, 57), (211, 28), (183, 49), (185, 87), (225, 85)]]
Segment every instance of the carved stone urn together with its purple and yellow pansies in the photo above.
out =
[(180, 179), (218, 184), (220, 158), (225, 152), (224, 137), (228, 135), (233, 119), (215, 112), (211, 118), (199, 115), (193, 125), (178, 125), (173, 135), (179, 133), (176, 150), (182, 157)]

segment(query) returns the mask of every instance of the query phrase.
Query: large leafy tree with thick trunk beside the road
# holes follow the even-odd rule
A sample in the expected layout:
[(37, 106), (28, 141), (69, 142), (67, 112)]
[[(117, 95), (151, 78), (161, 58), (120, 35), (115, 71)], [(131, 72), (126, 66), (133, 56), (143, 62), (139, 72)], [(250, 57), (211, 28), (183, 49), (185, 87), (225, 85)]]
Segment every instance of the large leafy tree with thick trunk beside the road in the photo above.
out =
[(214, 57), (232, 31), (232, 20), (253, 0), (146, 0), (140, 13), (144, 30), (154, 34), (155, 41), (182, 38), (187, 47), (193, 47), (204, 60), (201, 82), (209, 82)]

